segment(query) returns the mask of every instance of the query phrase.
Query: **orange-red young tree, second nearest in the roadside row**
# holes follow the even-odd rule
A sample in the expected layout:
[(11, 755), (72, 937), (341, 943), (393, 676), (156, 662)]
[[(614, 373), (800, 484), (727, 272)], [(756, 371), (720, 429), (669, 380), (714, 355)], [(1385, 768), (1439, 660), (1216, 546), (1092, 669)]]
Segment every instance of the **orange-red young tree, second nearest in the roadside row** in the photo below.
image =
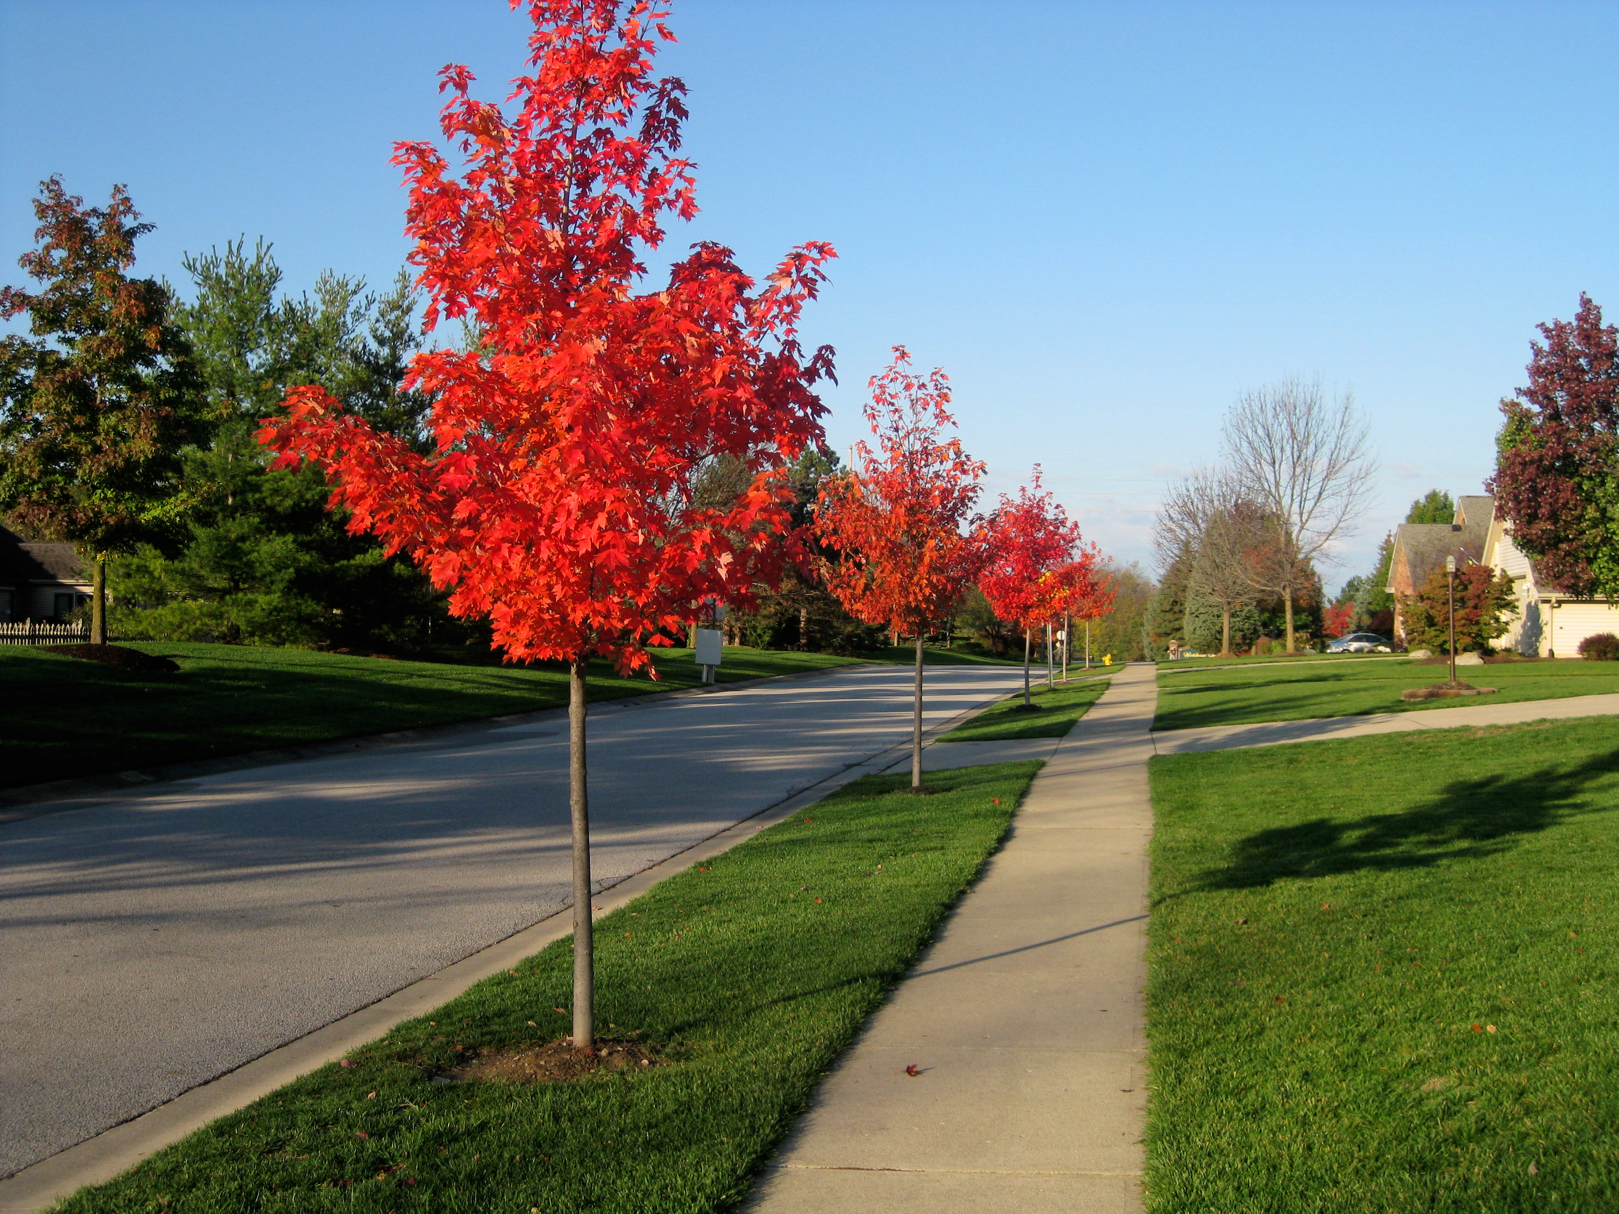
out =
[(905, 346), (871, 377), (866, 421), (881, 453), (855, 444), (856, 466), (821, 489), (816, 528), (842, 552), (827, 567), (827, 586), (843, 609), (866, 622), (916, 635), (916, 693), (911, 714), (911, 788), (921, 788), (921, 639), (945, 618), (984, 560), (978, 481), (984, 465), (962, 452), (945, 408), (944, 371), (913, 376)]

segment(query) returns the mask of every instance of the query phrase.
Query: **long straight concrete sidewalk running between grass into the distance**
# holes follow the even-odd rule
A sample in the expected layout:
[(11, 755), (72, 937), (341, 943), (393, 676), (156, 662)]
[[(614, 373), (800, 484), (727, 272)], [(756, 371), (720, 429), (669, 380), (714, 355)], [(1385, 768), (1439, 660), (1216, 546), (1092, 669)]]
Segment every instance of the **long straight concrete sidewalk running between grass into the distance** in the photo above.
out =
[(822, 1083), (750, 1211), (1141, 1208), (1156, 703), (1154, 669), (1124, 667), (1054, 746), (1005, 847)]

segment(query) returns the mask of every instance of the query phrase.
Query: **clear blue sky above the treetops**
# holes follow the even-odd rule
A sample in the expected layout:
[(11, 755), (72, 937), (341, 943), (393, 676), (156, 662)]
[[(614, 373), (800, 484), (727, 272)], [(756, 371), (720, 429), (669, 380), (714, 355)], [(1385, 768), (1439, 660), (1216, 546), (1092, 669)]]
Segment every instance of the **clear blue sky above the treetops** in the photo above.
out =
[[(1611, 3), (674, 8), (703, 215), (670, 249), (832, 241), (831, 440), (905, 343), (994, 490), (1041, 461), (1124, 560), (1237, 392), (1297, 372), (1353, 390), (1383, 463), (1336, 584), (1413, 497), (1480, 492), (1538, 320), (1619, 312)], [(392, 141), (436, 134), (444, 63), (504, 96), (523, 32), (502, 0), (0, 0), (0, 256), (60, 172), (128, 183), (146, 272), (244, 233), (295, 290), (385, 282)]]

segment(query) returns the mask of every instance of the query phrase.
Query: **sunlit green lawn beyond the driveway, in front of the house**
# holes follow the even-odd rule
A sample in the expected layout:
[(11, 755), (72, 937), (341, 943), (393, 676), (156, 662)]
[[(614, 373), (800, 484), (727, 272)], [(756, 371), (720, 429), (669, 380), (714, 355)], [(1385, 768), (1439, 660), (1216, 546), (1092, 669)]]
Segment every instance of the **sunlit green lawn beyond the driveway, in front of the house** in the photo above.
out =
[[(1162, 667), (1161, 667), (1162, 670)], [(1462, 704), (1562, 699), (1619, 691), (1619, 662), (1502, 662), (1457, 667), (1475, 686), (1493, 686), (1478, 699), (1400, 699), (1410, 686), (1443, 683), (1447, 667), (1420, 662), (1308, 664), (1208, 673), (1159, 673), (1153, 728), (1243, 725), (1258, 720), (1353, 717), (1366, 712), (1423, 712)]]

